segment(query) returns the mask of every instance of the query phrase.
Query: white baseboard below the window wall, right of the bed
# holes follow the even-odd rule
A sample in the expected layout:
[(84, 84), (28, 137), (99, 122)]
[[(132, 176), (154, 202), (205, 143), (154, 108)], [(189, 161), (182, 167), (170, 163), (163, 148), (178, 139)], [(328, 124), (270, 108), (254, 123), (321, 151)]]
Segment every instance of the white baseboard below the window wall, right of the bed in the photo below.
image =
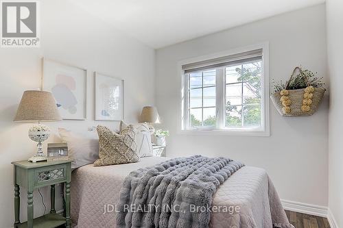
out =
[(299, 212), (303, 214), (311, 214), (314, 216), (321, 216), (327, 218), (328, 210), (327, 207), (312, 205), (308, 203), (299, 203), (295, 201), (287, 201), (285, 199), (281, 199), (281, 203), (285, 210), (289, 210), (292, 212)]

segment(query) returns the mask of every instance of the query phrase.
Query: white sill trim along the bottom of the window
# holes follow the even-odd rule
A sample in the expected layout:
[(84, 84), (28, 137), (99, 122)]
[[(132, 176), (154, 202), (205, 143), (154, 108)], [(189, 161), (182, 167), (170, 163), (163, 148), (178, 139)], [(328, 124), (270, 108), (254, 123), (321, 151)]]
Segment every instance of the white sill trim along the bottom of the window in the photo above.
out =
[(270, 136), (269, 131), (250, 129), (181, 129), (178, 133), (195, 136)]

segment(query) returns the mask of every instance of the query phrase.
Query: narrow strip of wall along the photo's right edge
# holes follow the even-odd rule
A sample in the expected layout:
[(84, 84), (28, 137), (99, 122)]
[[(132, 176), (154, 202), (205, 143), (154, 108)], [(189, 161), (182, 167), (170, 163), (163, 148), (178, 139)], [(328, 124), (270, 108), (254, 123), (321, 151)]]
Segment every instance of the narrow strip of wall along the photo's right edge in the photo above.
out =
[[(329, 214), (343, 227), (343, 2), (327, 0), (327, 47), (330, 76)], [(331, 218), (332, 218), (331, 216)]]

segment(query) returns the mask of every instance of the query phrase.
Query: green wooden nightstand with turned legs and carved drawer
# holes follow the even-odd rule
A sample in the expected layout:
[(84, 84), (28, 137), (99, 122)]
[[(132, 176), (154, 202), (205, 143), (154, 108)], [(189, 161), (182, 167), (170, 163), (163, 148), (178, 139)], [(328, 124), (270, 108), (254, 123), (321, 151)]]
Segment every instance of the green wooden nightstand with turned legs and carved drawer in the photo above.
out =
[[(18, 161), (14, 164), (14, 228), (16, 227), (42, 227), (53, 228), (60, 225), (71, 227), (70, 218), (70, 182), (71, 160), (58, 162), (27, 162)], [(56, 214), (55, 210), (55, 185), (65, 183), (65, 217)], [(27, 222), (21, 223), (20, 212), (20, 187), (27, 189)], [(51, 209), (49, 214), (34, 219), (34, 190), (51, 186)]]

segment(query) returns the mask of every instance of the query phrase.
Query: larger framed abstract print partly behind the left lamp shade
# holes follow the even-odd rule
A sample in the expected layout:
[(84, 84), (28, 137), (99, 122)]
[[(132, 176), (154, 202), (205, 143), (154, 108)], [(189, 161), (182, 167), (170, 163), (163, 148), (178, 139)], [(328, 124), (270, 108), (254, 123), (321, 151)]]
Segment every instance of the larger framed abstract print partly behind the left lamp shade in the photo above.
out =
[(86, 119), (87, 71), (43, 59), (42, 89), (51, 92), (63, 119)]

